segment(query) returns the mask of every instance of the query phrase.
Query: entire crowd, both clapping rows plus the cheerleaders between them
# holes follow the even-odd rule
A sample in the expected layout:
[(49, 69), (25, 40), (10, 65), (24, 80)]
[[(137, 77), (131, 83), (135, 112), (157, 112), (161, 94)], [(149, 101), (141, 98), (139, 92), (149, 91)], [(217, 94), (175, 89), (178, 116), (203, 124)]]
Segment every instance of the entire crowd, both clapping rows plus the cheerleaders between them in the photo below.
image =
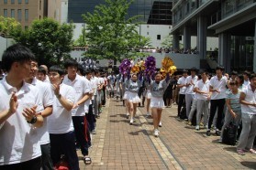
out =
[(234, 122), (241, 129), (238, 154), (256, 154), (256, 75), (249, 71), (233, 71), (230, 78), (223, 67), (211, 76), (195, 68), (184, 69), (181, 77), (161, 72), (108, 75), (84, 69), (75, 59), (65, 60), (64, 69), (48, 69), (21, 45), (7, 48), (2, 64), (6, 75), (0, 80), (0, 169), (47, 170), (65, 162), (76, 170), (77, 148), (84, 164), (91, 164), (88, 150), (96, 118), (106, 98), (114, 97), (123, 101), (130, 125), (137, 107), (146, 106), (155, 137), (160, 135), (162, 109), (177, 102), (178, 119), (188, 125), (195, 120), (195, 130), (206, 128), (207, 136), (214, 129), (219, 142), (225, 127)]

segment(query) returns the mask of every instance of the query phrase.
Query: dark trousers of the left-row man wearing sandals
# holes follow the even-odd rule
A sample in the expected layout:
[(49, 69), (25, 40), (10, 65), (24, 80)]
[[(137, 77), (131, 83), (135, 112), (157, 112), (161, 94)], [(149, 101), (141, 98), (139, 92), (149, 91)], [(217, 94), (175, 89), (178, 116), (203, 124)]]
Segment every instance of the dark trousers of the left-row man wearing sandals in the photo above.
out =
[(80, 145), (82, 154), (88, 155), (89, 146), (86, 141), (84, 121), (86, 121), (85, 116), (72, 116), (76, 142)]

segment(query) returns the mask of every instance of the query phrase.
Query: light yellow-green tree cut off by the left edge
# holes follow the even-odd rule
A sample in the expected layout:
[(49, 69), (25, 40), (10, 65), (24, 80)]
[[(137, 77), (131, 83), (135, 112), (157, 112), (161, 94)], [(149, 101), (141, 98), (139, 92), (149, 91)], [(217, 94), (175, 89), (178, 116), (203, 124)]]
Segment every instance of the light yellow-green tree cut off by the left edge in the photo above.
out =
[(21, 25), (13, 17), (0, 16), (0, 35), (10, 37), (21, 29)]

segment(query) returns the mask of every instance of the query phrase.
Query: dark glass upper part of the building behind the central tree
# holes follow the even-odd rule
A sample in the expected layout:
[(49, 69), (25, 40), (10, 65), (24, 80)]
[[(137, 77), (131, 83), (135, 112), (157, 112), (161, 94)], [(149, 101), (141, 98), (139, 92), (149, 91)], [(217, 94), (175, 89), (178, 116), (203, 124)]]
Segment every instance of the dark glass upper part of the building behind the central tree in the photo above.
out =
[[(105, 0), (70, 0), (68, 21), (83, 23), (84, 13), (93, 13), (95, 5), (105, 4)], [(128, 8), (128, 17), (141, 16), (139, 21), (151, 25), (172, 25), (172, 0), (135, 0)]]

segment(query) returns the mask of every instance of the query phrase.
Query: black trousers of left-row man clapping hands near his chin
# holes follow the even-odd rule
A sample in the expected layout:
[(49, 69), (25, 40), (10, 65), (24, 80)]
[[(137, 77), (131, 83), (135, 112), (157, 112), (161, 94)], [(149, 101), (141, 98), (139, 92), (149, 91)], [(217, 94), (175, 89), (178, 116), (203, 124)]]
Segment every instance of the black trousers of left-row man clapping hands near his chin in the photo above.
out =
[(50, 157), (53, 165), (61, 161), (61, 154), (65, 155), (70, 169), (79, 170), (73, 131), (61, 134), (50, 133)]

